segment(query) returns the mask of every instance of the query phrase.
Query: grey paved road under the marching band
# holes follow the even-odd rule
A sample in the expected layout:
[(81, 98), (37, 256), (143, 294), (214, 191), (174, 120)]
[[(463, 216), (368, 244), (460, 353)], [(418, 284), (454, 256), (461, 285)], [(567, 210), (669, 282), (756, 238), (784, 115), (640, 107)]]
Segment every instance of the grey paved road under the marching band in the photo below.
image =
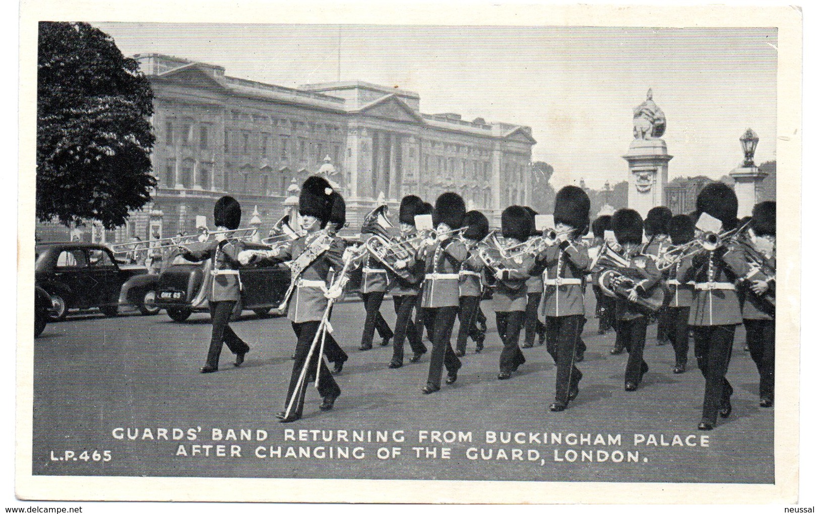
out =
[[(394, 321), (390, 301), (382, 313)], [(468, 354), (457, 384), (420, 395), (428, 357), (390, 370), (391, 349), (357, 351), (364, 309), (341, 304), (333, 326), (351, 355), (337, 377), (342, 396), (333, 411), (320, 413), (311, 388), (305, 418), (282, 425), (274, 414), (282, 410), (292, 368), (292, 329), (286, 319), (247, 314), (233, 323), (252, 347), (247, 362), (233, 368), (225, 349), (222, 370), (209, 375), (198, 373), (210, 329), (204, 313), (183, 323), (161, 313), (49, 325), (34, 345), (34, 474), (773, 481), (773, 410), (758, 407), (758, 375), (743, 351), (741, 328), (728, 374), (734, 413), (704, 433), (696, 430), (704, 379), (696, 368), (672, 374), (672, 349), (655, 345), (655, 326), (649, 326), (645, 356), (651, 369), (640, 390), (626, 392), (627, 356), (610, 355), (613, 334), (597, 336), (597, 322), (590, 320), (580, 395), (565, 412), (550, 413), (554, 363), (545, 347), (524, 350), (527, 363), (520, 372), (498, 381), (500, 341), (491, 322), (486, 349)], [(196, 440), (173, 440), (174, 428), (186, 437), (193, 431)], [(223, 435), (233, 429), (237, 439), (245, 430), (252, 440), (214, 441), (213, 429)], [(307, 430), (307, 440), (287, 440), (286, 429), (296, 431), (296, 439)], [(266, 439), (256, 431), (266, 431)], [(347, 431), (347, 441), (338, 431)], [(373, 440), (355, 441), (353, 431)], [(394, 431), (404, 431), (403, 440)], [(433, 431), (441, 432), (442, 442), (430, 440)], [(487, 431), (499, 440), (487, 442)], [(500, 440), (509, 432), (513, 440)], [(381, 433), (386, 442), (376, 440)], [(219, 444), (225, 446), (220, 450)], [(393, 448), (400, 454), (393, 455)], [(288, 449), (296, 457), (288, 457)], [(389, 457), (379, 458), (379, 449)], [(613, 462), (621, 456), (622, 462)], [(636, 462), (628, 462), (630, 456)]]

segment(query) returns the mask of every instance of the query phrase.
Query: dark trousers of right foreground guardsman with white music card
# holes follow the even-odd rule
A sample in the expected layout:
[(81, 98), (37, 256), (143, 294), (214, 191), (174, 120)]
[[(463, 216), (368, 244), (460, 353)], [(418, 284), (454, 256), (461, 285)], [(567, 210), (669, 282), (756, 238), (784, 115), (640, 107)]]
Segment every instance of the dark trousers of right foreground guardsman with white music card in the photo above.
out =
[(694, 354), (705, 377), (703, 420), (717, 422), (717, 411), (731, 399), (734, 389), (726, 380), (736, 325), (694, 327)]

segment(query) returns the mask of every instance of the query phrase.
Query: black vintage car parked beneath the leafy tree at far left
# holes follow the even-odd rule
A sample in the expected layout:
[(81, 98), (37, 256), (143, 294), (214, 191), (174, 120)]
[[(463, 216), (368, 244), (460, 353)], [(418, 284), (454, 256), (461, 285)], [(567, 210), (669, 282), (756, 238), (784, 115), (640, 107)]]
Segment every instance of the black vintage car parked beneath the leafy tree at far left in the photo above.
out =
[(115, 316), (120, 309), (121, 291), (128, 292), (124, 296), (125, 304), (133, 304), (143, 313), (152, 313), (155, 290), (139, 278), (147, 274), (147, 269), (119, 264), (107, 246), (50, 243), (35, 246), (34, 253), (35, 284), (51, 297), (48, 321), (63, 319), (69, 311), (95, 308), (106, 316)]

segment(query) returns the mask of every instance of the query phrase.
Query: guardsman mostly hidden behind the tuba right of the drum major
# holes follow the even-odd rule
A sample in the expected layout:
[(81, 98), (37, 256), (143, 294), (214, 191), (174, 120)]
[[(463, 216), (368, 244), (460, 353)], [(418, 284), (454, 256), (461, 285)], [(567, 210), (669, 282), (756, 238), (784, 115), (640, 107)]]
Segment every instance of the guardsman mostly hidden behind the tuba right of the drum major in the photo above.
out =
[[(362, 227), (361, 242), (367, 241), (372, 233), (374, 232), (370, 232), (369, 227)], [(361, 299), (364, 300), (364, 310), (367, 312), (367, 317), (364, 318), (364, 331), (361, 332), (360, 351), (373, 348), (373, 336), (376, 330), (378, 330), (378, 335), (381, 336), (381, 345), (387, 346), (390, 344), (393, 336), (392, 329), (381, 315), (381, 304), (389, 286), (387, 268), (384, 268), (384, 265), (372, 255), (365, 255), (361, 265), (361, 286), (359, 291)]]

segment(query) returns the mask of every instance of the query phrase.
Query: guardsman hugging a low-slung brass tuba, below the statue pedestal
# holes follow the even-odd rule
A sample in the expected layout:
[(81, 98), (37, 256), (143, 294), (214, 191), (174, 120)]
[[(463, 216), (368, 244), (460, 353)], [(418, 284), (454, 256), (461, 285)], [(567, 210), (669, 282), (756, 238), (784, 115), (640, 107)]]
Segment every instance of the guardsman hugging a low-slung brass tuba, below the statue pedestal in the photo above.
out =
[(640, 213), (632, 209), (618, 210), (612, 216), (611, 228), (620, 246), (618, 253), (630, 262), (630, 267), (639, 269), (646, 276), (636, 282), (636, 286), (629, 292), (628, 299), (618, 298), (615, 304), (617, 336), (621, 341), (619, 345), (628, 352), (625, 389), (633, 391), (637, 390), (643, 381), (643, 375), (649, 371), (649, 365), (643, 358), (648, 318), (644, 310), (636, 307), (636, 300), (638, 296), (645, 295), (657, 286), (660, 273), (654, 260), (642, 255), (643, 219)]

